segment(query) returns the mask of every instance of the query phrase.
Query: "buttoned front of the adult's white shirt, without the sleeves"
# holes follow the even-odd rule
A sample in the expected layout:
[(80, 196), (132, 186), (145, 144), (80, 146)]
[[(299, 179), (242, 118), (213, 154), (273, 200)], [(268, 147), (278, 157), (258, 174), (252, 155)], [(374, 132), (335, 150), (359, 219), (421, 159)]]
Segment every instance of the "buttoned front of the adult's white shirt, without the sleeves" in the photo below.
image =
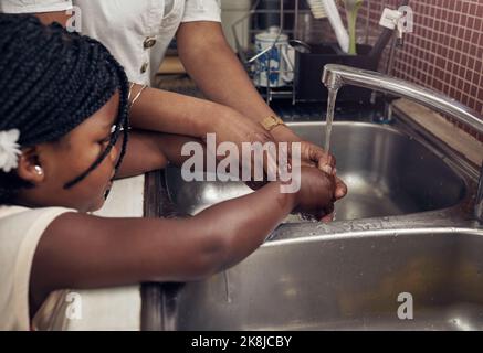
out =
[[(74, 0), (82, 33), (99, 40), (130, 81), (149, 84), (175, 36), (186, 0)], [(74, 9), (75, 11), (76, 9)]]

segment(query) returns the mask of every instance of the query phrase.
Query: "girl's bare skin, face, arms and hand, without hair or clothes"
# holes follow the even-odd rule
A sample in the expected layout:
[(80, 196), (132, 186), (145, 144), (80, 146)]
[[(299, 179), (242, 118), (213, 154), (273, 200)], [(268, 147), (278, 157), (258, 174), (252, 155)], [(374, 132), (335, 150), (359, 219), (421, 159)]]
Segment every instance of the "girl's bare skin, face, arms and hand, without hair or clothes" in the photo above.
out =
[[(41, 237), (32, 264), (31, 312), (62, 288), (98, 288), (146, 280), (187, 281), (233, 266), (255, 250), (294, 210), (321, 212), (332, 205), (334, 176), (303, 168), (297, 193), (281, 193), (281, 182), (217, 204), (189, 218), (104, 218), (85, 214), (98, 210), (118, 159), (112, 153), (72, 189), (64, 183), (85, 171), (103, 151), (117, 115), (118, 95), (57, 142), (27, 148), (18, 174), (34, 184), (22, 190), (18, 204), (65, 206), (80, 213), (59, 216)], [(178, 163), (189, 137), (134, 133), (120, 175)], [(164, 142), (164, 143), (160, 143)], [(158, 146), (165, 145), (162, 151)], [(139, 153), (147, 161), (139, 163)], [(171, 156), (171, 157), (170, 157)], [(39, 173), (39, 168), (41, 173)]]

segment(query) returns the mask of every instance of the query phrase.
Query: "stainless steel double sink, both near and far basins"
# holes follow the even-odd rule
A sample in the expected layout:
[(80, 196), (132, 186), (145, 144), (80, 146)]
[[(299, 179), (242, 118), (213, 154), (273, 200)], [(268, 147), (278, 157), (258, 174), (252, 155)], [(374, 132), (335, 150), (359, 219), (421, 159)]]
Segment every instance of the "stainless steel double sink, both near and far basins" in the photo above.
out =
[[(291, 127), (324, 142), (324, 124)], [(333, 153), (349, 188), (337, 221), (287, 218), (235, 267), (160, 285), (157, 328), (483, 330), (483, 229), (465, 211), (474, 181), (403, 131), (336, 122)], [(241, 182), (187, 183), (177, 168), (165, 182), (177, 211), (189, 214), (251, 192)], [(412, 298), (412, 320), (398, 317), (401, 293)]]

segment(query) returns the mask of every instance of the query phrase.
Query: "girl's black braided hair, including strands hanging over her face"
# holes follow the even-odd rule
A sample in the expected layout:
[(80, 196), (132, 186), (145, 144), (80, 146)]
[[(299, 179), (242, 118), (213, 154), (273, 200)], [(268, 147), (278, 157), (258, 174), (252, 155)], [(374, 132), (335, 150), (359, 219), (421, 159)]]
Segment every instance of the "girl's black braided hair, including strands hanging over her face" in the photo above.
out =
[[(119, 92), (108, 146), (64, 188), (86, 178), (123, 136), (117, 172), (128, 141), (129, 88), (124, 68), (98, 41), (59, 23), (43, 25), (33, 15), (0, 14), (0, 131), (18, 129), (21, 147), (60, 140)], [(20, 189), (31, 186), (15, 171), (0, 170), (0, 204), (13, 203)]]

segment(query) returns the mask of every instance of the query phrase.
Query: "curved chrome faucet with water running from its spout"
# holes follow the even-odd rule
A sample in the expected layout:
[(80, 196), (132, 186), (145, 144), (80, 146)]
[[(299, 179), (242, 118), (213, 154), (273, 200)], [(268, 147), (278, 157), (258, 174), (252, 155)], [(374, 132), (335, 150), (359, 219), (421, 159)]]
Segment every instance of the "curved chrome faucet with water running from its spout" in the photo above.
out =
[[(328, 89), (338, 89), (344, 85), (351, 85), (403, 97), (449, 116), (483, 135), (483, 117), (479, 113), (441, 93), (402, 79), (377, 72), (328, 64), (324, 67), (322, 82)], [(483, 223), (483, 165), (480, 172), (474, 215), (476, 220)]]

